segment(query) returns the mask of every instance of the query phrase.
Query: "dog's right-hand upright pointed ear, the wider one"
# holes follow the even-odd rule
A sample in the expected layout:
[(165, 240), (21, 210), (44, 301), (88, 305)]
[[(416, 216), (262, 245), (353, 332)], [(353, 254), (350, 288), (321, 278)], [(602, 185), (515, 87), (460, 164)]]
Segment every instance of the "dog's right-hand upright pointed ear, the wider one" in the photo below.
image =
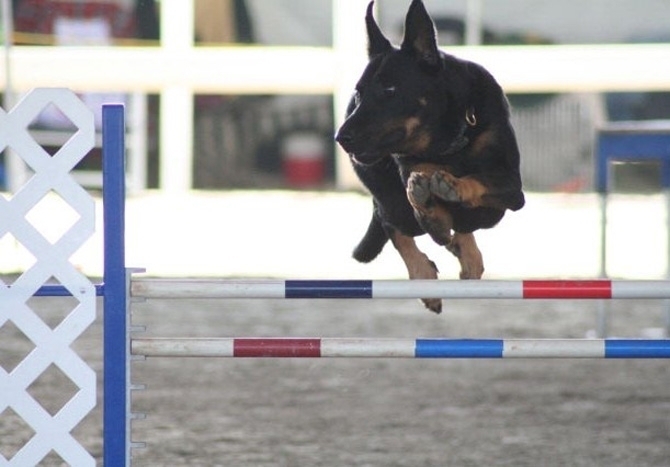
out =
[(421, 0), (413, 0), (407, 10), (405, 37), (400, 48), (413, 52), (419, 60), (430, 67), (437, 67), (440, 63), (435, 25)]

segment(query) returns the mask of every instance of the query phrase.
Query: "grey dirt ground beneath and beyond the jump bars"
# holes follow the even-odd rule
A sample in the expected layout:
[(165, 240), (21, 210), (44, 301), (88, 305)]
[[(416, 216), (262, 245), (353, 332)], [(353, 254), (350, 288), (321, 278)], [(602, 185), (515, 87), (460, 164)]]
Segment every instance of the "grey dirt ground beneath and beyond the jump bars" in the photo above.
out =
[[(451, 301), (435, 316), (414, 300), (185, 300), (135, 304), (133, 322), (146, 337), (584, 337), (596, 310), (595, 301)], [(662, 324), (662, 310), (612, 302), (612, 334), (640, 336)], [(96, 370), (100, 338), (96, 324), (75, 345)], [(13, 346), (6, 338), (3, 349)], [(147, 443), (134, 450), (138, 466), (670, 459), (667, 361), (152, 358), (133, 363), (133, 381), (147, 386), (133, 397), (147, 414), (133, 422), (133, 440)], [(58, 397), (58, 384), (44, 400)], [(74, 431), (98, 459), (100, 405)], [(22, 434), (7, 423), (0, 417), (0, 444), (11, 455)], [(60, 465), (58, 456), (44, 465)]]

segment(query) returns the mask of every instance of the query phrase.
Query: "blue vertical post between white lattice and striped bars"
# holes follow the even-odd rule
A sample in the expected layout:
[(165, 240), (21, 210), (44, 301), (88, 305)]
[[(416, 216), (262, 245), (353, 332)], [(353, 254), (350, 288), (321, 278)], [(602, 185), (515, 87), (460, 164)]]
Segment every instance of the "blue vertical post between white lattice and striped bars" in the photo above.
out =
[(129, 465), (125, 266), (125, 122), (123, 105), (102, 108), (104, 215), (104, 463)]

